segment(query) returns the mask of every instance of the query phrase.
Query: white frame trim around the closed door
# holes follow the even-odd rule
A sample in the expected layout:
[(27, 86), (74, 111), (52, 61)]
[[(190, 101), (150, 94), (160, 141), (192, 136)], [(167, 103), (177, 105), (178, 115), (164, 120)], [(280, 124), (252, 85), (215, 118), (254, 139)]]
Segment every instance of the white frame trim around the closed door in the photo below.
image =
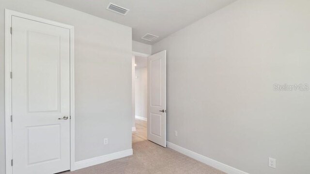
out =
[[(22, 17), (25, 19), (54, 25), (70, 30), (70, 170), (74, 171), (75, 163), (75, 92), (74, 92), (74, 27), (59, 22), (51, 21), (41, 17), (23, 14), (16, 11), (5, 9), (4, 22), (4, 93), (5, 93), (5, 171), (6, 174), (13, 174), (12, 160), (12, 16)], [(14, 32), (14, 29), (13, 29)]]

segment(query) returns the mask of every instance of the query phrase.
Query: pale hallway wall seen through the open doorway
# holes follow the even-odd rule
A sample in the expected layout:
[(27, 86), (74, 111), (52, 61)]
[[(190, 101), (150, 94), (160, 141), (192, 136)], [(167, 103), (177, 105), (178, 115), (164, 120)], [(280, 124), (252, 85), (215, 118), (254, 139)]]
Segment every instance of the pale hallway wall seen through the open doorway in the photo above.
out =
[(147, 68), (136, 68), (136, 116), (147, 118)]

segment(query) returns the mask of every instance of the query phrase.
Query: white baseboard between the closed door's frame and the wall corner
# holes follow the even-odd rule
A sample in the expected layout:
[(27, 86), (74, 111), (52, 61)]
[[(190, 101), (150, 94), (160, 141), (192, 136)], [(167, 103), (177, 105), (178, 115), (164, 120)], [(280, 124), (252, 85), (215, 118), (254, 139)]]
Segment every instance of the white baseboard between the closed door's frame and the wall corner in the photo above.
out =
[(74, 170), (78, 170), (78, 169), (82, 169), (85, 167), (90, 167), (93, 165), (101, 164), (104, 162), (108, 162), (110, 160), (116, 160), (116, 159), (124, 158), (124, 157), (130, 156), (132, 154), (133, 154), (132, 149), (128, 149), (128, 150), (123, 150), (120, 152), (111, 153), (108, 155), (103, 155), (100, 157), (95, 157), (92, 159), (81, 160), (81, 161), (75, 162)]

